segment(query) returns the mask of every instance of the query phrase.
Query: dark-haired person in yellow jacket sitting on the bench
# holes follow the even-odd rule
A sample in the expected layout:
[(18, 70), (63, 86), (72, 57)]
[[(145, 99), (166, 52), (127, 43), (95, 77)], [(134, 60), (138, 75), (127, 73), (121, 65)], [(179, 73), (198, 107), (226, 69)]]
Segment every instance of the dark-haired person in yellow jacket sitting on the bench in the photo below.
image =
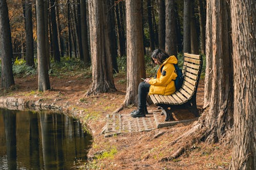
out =
[(155, 78), (146, 78), (138, 87), (138, 109), (131, 112), (132, 117), (144, 117), (147, 113), (146, 96), (151, 94), (170, 95), (175, 92), (174, 80), (177, 77), (174, 64), (178, 63), (175, 56), (169, 56), (163, 50), (154, 50), (152, 61), (160, 65)]

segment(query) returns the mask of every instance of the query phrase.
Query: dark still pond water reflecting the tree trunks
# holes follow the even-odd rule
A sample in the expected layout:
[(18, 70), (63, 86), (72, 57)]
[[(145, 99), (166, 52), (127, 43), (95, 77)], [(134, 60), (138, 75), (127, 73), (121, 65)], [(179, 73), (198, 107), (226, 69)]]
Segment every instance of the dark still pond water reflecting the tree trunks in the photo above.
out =
[(91, 140), (64, 114), (0, 108), (0, 169), (72, 169)]

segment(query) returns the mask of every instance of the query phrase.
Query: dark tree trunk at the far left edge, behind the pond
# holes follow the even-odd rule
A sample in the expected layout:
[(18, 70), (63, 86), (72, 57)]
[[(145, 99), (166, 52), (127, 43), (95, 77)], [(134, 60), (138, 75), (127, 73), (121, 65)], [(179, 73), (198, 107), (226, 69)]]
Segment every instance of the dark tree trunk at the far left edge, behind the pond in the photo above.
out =
[(12, 72), (12, 39), (6, 0), (0, 2), (0, 53), (2, 60), (1, 88), (14, 85)]

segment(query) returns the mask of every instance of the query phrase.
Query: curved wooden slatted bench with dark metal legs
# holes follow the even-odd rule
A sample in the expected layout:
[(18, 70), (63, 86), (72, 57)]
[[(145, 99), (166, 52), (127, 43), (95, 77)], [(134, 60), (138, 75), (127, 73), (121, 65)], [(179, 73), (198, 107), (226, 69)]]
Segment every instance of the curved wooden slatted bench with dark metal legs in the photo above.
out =
[(187, 109), (196, 117), (199, 116), (196, 95), (202, 65), (202, 56), (184, 53), (182, 68), (184, 82), (182, 87), (171, 95), (150, 95), (153, 103), (161, 107), (162, 113), (165, 115), (165, 121), (174, 120), (172, 113), (177, 109)]

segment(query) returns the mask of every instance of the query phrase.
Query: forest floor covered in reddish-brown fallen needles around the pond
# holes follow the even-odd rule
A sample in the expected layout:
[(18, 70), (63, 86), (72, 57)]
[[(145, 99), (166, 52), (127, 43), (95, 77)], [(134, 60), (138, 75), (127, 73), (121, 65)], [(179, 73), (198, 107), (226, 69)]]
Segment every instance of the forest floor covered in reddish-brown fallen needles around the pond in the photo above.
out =
[[(125, 75), (115, 76), (117, 91), (86, 96), (91, 78), (83, 75), (52, 77), (51, 90), (37, 91), (37, 77), (15, 78), (15, 87), (11, 91), (1, 90), (0, 96), (21, 98), (25, 101), (40, 101), (67, 108), (67, 114), (82, 110), (75, 116), (86, 125), (93, 136), (89, 156), (94, 157), (88, 163), (82, 163), (81, 169), (228, 169), (231, 149), (218, 143), (193, 142), (180, 157), (162, 160), (176, 152), (184, 143), (170, 145), (174, 139), (188, 131), (195, 122), (178, 124), (172, 127), (151, 131), (125, 133), (104, 137), (101, 134), (106, 123), (106, 115), (112, 114), (123, 103), (126, 83)], [(197, 92), (197, 105), (203, 106), (203, 80)], [(130, 114), (135, 106), (124, 108), (120, 114)], [(149, 110), (157, 107), (150, 105)]]

